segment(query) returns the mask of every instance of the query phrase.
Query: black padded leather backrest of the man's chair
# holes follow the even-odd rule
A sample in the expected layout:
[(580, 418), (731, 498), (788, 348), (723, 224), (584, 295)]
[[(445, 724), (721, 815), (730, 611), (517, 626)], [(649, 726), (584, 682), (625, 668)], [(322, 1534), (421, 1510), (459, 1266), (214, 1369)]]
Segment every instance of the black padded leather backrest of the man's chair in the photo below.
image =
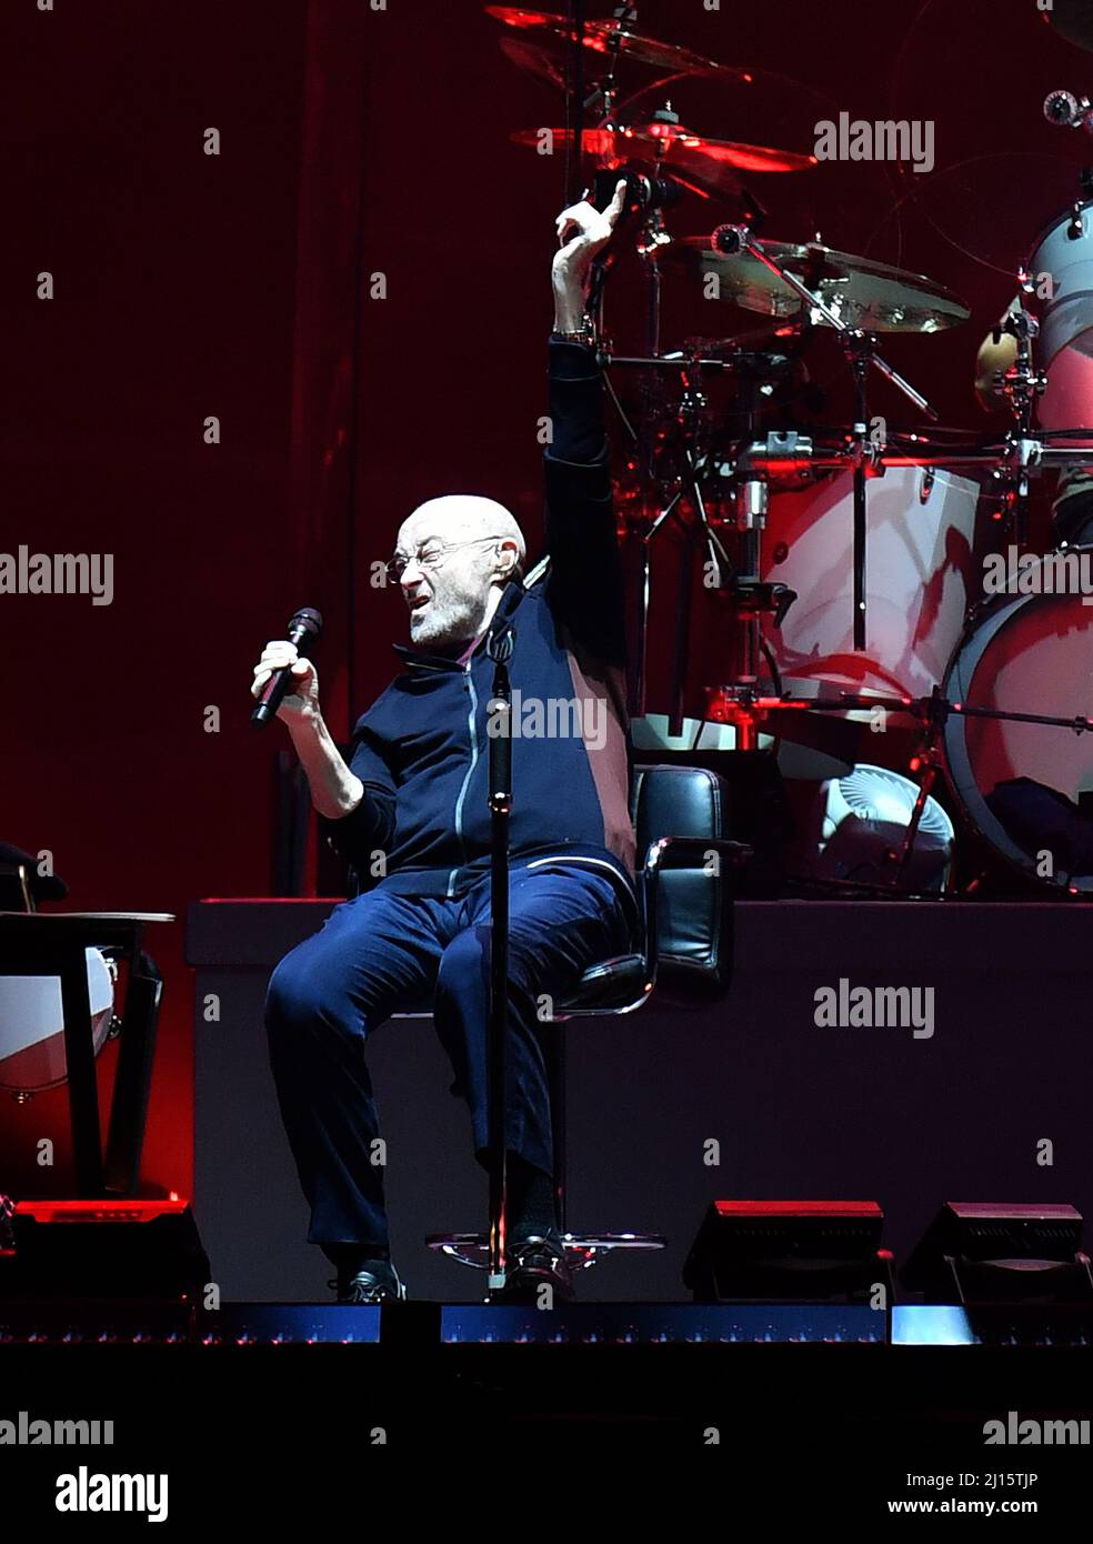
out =
[[(644, 862), (661, 837), (726, 838), (727, 787), (716, 772), (636, 766), (630, 814)], [(658, 993), (709, 1001), (727, 991), (733, 954), (733, 871), (712, 849), (661, 871), (656, 896)]]

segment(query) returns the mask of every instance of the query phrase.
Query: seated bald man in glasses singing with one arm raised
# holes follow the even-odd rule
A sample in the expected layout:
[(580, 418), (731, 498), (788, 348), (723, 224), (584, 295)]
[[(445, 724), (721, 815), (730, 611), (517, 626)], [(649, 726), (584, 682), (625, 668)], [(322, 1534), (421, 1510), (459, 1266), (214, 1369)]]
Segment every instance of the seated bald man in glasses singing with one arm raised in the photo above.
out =
[[(630, 948), (638, 920), (628, 817), (624, 625), (602, 380), (584, 317), (590, 264), (622, 210), (580, 202), (557, 219), (545, 452), (550, 571), (525, 588), (525, 542), (491, 499), (431, 499), (398, 531), (389, 574), (409, 608), (404, 672), (358, 720), (346, 763), (315, 665), (267, 645), (258, 695), (290, 665), (278, 715), (320, 824), (371, 888), (337, 906), (275, 970), (266, 1022), (281, 1115), (310, 1206), (309, 1241), (340, 1302), (406, 1297), (391, 1260), (378, 1112), (364, 1044), (392, 1013), (431, 1004), (488, 1161), (488, 704), (492, 628), (511, 627), (513, 735), (506, 1286), (573, 1297), (559, 1235), (540, 1017), (582, 971)], [(594, 727), (594, 733), (590, 729)], [(380, 875), (378, 879), (375, 875)]]

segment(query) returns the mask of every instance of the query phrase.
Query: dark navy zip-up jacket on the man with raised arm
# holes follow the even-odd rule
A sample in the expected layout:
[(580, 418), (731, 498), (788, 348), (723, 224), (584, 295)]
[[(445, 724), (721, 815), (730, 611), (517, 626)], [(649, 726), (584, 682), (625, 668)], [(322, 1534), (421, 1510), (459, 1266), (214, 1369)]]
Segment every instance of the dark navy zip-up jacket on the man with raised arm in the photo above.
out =
[[(550, 571), (531, 590), (509, 582), (497, 608), (514, 630), (509, 851), (514, 868), (557, 857), (601, 868), (631, 902), (625, 625), (602, 397), (593, 350), (551, 340)], [(485, 639), (466, 665), (395, 650), (406, 672), (354, 730), (364, 798), (320, 823), (363, 886), (460, 896), (489, 872), (494, 662)]]

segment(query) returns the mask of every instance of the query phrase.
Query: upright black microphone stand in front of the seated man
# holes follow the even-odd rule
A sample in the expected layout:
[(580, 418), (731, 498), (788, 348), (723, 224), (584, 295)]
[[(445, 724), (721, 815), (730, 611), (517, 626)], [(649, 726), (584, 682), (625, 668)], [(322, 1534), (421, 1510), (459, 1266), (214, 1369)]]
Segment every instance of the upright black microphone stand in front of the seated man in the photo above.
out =
[[(503, 622), (486, 639), (494, 662), (489, 703), (489, 1277), (488, 1288), (505, 1286), (505, 1042), (508, 1034), (508, 832), (513, 811), (513, 689), (508, 662), (514, 630)], [(489, 718), (486, 720), (489, 724)]]

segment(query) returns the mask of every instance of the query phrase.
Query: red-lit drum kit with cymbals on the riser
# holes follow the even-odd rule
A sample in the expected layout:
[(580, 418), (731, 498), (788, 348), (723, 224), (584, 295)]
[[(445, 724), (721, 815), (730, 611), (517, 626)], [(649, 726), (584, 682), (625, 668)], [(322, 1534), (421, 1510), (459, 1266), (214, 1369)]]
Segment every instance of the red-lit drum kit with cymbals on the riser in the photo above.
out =
[[(645, 36), (633, 6), (579, 23), (486, 11), (502, 23), (508, 59), (565, 91), (567, 125), (517, 130), (514, 142), (542, 151), (546, 137), (565, 153), (571, 185), (601, 208), (627, 181), (616, 241), (593, 270), (590, 315), (610, 395), (621, 412), (616, 381), (636, 383), (639, 398), (636, 412), (622, 412), (633, 443), (616, 486), (621, 534), (638, 553), (633, 715), (653, 706), (653, 553), (672, 531), (682, 559), (672, 679), (659, 704), (670, 738), (685, 723), (716, 723), (732, 729), (736, 750), (772, 738), (823, 750), (824, 724), (875, 727), (878, 715), (902, 715), (917, 726), (919, 795), (878, 888), (911, 892), (914, 843), (943, 774), (980, 848), (1045, 892), (1091, 892), (1093, 522), (1070, 533), (1076, 545), (1061, 539), (1036, 553), (1028, 505), (1036, 480), (1053, 472), (1062, 486), (1088, 479), (1093, 489), (1093, 173), (1082, 173), (1073, 204), (1028, 252), (1014, 253), (1025, 258), (1014, 261), (1017, 300), (994, 332), (996, 346), (1011, 340), (1013, 363), (993, 383), (1010, 429), (946, 429), (882, 343), (940, 334), (968, 321), (969, 307), (920, 273), (818, 239), (763, 236), (769, 210), (749, 179), (807, 178), (817, 157), (801, 144), (692, 133), (673, 105), (692, 79), (730, 94), (747, 86), (749, 71)], [(1061, 31), (1093, 49), (1093, 32), (1078, 23), (1074, 34), (1076, 17), (1081, 8), (1062, 5)], [(622, 99), (631, 66), (664, 79)], [(650, 111), (650, 91), (668, 86)], [(1054, 93), (1045, 116), (1070, 124), (1071, 108), (1093, 124), (1090, 103), (1068, 93)], [(670, 229), (685, 201), (704, 205), (701, 235)], [(715, 225), (718, 205), (727, 218)], [(645, 293), (638, 354), (614, 352), (605, 306), (627, 244)], [(664, 347), (665, 284), (766, 324)], [(787, 422), (821, 334), (838, 340), (852, 417)], [(915, 426), (871, 417), (877, 377), (909, 403)], [(727, 405), (712, 405), (716, 381)], [(1005, 582), (988, 593), (986, 554), (1000, 542)], [(701, 721), (684, 718), (699, 553), (704, 588), (730, 622), (727, 664), (704, 689)]]

